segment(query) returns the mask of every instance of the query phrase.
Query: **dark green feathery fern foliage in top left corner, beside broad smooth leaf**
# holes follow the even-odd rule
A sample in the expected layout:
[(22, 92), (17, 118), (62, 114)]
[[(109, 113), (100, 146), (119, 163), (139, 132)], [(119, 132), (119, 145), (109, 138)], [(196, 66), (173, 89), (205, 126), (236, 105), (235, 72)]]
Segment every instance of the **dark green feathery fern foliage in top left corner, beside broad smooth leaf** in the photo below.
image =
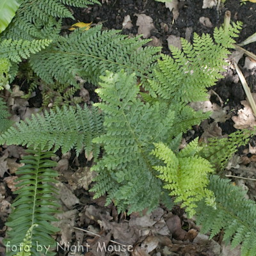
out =
[[(61, 19), (74, 19), (65, 4), (84, 8), (88, 4), (100, 4), (96, 0), (20, 0), (20, 3), (12, 22), (1, 33), (1, 38), (29, 41), (44, 38), (54, 40), (60, 33)], [(60, 20), (57, 21), (56, 18)]]

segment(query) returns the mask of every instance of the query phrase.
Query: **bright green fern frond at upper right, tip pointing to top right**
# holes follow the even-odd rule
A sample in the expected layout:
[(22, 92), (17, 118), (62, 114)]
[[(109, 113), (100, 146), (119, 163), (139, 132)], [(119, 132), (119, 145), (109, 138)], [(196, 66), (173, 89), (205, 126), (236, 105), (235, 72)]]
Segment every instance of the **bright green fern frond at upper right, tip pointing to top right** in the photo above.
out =
[(214, 85), (222, 77), (220, 72), (225, 71), (225, 58), (230, 54), (228, 48), (232, 48), (234, 42), (231, 36), (236, 36), (239, 28), (239, 22), (230, 26), (228, 33), (216, 28), (216, 44), (210, 35), (198, 36), (195, 33), (193, 44), (181, 38), (182, 51), (170, 45), (173, 58), (161, 55), (154, 79), (149, 81), (152, 90), (170, 103), (205, 100), (205, 88)]

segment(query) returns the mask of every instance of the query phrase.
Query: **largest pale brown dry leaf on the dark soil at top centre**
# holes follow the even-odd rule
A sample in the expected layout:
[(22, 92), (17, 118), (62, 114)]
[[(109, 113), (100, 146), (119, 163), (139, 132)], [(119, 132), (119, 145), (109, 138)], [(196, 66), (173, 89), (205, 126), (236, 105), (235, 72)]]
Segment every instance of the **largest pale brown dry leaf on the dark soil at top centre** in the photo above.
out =
[(134, 14), (135, 16), (138, 17), (136, 26), (139, 26), (138, 28), (138, 35), (143, 34), (143, 38), (149, 38), (150, 37), (150, 31), (152, 29), (156, 29), (153, 22), (153, 19), (150, 16), (145, 15), (144, 13), (142, 14)]

